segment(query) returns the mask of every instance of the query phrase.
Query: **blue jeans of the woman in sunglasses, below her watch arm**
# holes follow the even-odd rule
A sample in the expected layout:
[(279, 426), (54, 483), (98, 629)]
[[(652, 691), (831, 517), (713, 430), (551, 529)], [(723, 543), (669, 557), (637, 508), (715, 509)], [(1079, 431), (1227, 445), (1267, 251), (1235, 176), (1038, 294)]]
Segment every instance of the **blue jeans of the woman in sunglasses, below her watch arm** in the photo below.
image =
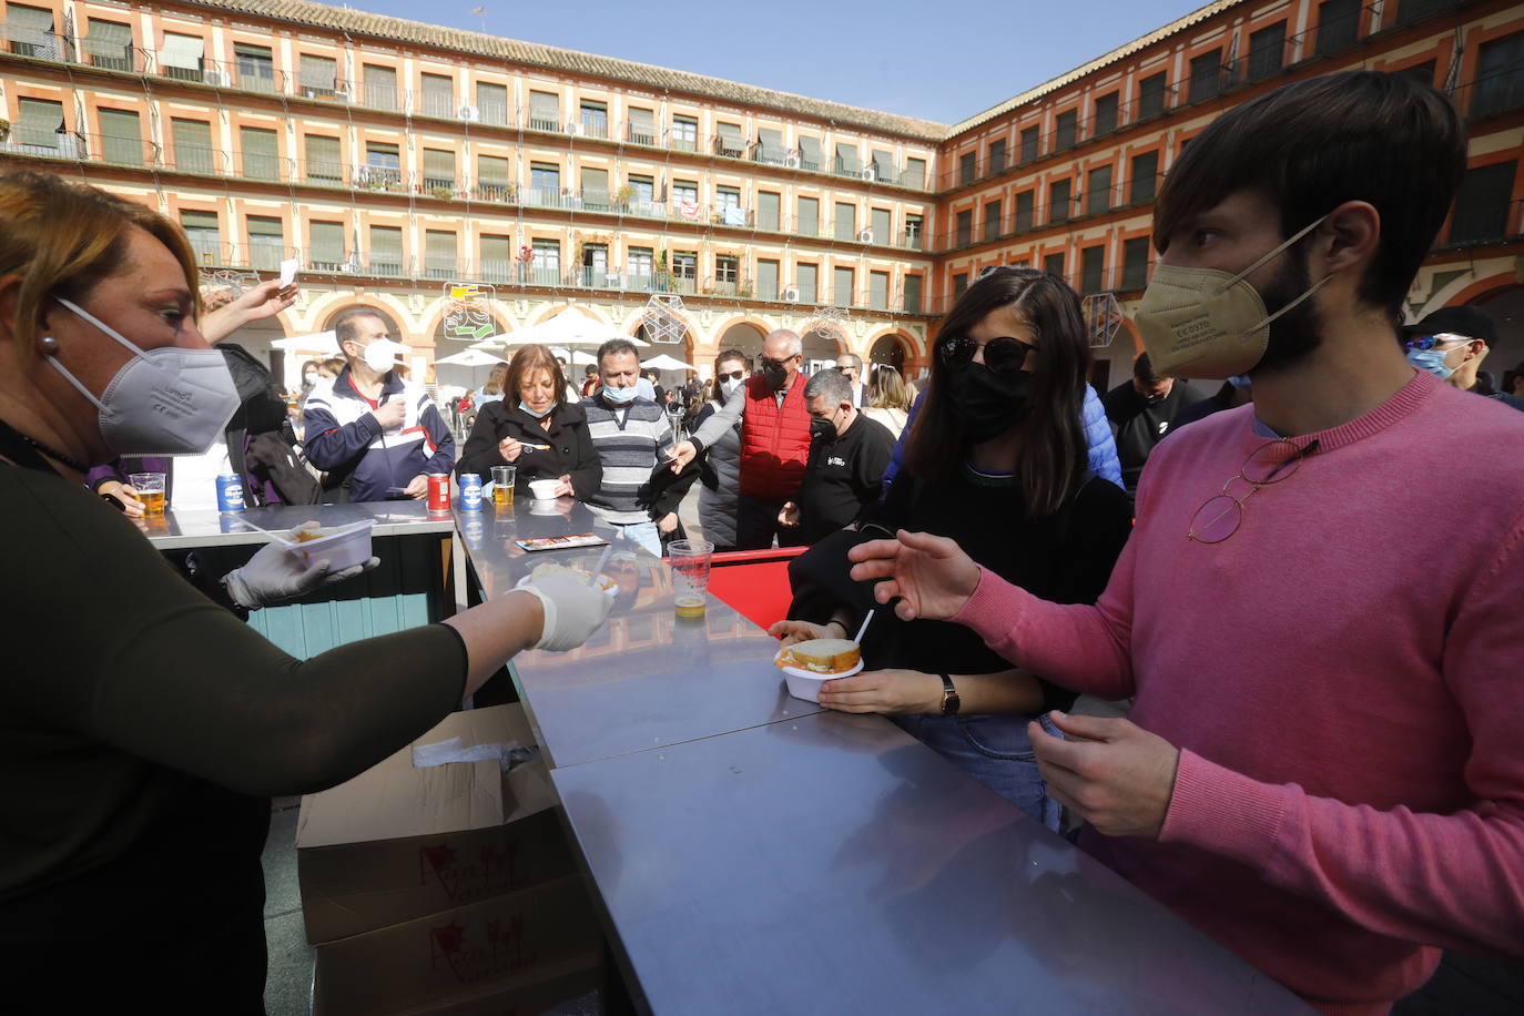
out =
[[(1059, 803), (1049, 797), (1038, 775), (1026, 716), (890, 716), (943, 759), (956, 763), (991, 791), (1058, 832)], [(1042, 730), (1062, 736), (1044, 713)]]

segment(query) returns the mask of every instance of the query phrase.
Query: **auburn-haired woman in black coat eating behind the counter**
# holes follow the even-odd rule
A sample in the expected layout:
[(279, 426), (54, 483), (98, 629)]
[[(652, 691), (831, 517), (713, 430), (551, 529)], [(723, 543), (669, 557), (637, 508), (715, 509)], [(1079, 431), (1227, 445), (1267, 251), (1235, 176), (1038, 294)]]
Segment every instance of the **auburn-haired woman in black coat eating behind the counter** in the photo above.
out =
[(561, 364), (544, 346), (524, 346), (507, 366), (500, 402), (477, 411), (475, 425), (456, 463), (456, 475), (474, 472), (492, 480), (492, 466), (518, 466), (514, 487), (529, 492), (530, 480), (558, 480), (556, 497), (587, 498), (604, 483), (604, 466), (587, 414), (565, 399)]

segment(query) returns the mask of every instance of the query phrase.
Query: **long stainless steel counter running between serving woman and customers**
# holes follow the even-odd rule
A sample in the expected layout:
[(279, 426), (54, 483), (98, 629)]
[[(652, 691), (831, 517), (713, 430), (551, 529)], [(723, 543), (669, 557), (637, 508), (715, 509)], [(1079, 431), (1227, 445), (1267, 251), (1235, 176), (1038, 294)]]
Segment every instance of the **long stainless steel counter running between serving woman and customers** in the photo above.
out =
[[(581, 506), (462, 515), (483, 596)], [(652, 1013), (1308, 1013), (1294, 995), (879, 716), (788, 698), (776, 643), (617, 564), (582, 649), (512, 666), (611, 951)]]

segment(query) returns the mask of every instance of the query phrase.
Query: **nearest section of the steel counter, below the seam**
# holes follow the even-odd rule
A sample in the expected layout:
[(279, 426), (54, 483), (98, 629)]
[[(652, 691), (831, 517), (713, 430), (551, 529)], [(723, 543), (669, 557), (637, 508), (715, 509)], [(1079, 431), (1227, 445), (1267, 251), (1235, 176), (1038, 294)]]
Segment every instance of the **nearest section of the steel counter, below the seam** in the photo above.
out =
[(1311, 1011), (876, 716), (550, 775), (637, 1008)]

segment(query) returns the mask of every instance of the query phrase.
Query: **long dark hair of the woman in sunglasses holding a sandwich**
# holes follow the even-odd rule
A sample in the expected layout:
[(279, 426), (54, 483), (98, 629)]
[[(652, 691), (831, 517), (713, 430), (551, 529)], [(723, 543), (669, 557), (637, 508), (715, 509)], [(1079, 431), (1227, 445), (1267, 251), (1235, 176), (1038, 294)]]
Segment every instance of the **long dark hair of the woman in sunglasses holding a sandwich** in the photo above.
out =
[(940, 349), (998, 308), (1015, 306), (1038, 343), (1032, 408), (1021, 427), (1017, 481), (1030, 518), (1053, 515), (1085, 471), (1085, 375), (1090, 343), (1079, 297), (1059, 279), (1035, 268), (998, 268), (971, 285), (937, 332), (931, 384), (905, 442), (905, 468), (925, 483), (946, 483), (968, 462), (972, 440), (948, 395), (951, 367)]

